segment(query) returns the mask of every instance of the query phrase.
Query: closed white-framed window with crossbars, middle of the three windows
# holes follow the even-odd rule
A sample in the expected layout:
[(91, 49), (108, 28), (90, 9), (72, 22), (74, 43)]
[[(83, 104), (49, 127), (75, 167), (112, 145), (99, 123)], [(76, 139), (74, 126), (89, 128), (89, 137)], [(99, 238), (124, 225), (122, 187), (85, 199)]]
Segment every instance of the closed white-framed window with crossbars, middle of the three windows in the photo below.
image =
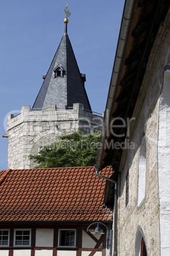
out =
[(14, 230), (14, 246), (30, 246), (31, 229)]

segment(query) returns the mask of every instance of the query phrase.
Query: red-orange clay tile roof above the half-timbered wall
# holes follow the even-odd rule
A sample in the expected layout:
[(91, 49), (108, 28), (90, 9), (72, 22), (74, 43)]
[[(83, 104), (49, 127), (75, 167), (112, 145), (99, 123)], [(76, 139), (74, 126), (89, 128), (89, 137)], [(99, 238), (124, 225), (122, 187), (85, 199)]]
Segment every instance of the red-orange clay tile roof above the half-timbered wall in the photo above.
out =
[(102, 206), (105, 182), (95, 167), (0, 171), (0, 221), (112, 220)]

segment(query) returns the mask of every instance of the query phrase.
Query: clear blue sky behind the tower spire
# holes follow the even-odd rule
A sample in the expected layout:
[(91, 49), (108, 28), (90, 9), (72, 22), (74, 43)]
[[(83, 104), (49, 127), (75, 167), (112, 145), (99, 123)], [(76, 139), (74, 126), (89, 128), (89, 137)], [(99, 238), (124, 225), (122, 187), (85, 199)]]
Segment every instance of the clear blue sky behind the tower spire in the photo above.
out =
[(0, 2), (0, 170), (8, 167), (6, 117), (32, 105), (63, 36), (68, 34), (93, 111), (105, 110), (124, 0), (1, 0)]

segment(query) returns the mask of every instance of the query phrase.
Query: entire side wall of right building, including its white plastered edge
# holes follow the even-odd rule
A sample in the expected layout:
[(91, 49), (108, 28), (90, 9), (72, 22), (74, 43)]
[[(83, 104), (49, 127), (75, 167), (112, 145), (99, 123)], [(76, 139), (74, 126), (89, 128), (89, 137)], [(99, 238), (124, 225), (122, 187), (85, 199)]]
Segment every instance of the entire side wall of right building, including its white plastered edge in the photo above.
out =
[[(134, 109), (135, 121), (131, 123), (129, 138), (135, 145), (134, 149), (124, 150), (122, 154), (117, 206), (118, 252), (121, 256), (140, 255), (139, 234), (145, 240), (147, 255), (170, 255), (169, 17), (168, 13), (152, 46)], [(143, 132), (145, 132), (146, 146), (145, 152), (141, 154)], [(145, 166), (141, 164), (141, 158), (145, 158)], [(145, 193), (143, 200), (138, 204), (140, 169), (145, 174), (143, 175)]]

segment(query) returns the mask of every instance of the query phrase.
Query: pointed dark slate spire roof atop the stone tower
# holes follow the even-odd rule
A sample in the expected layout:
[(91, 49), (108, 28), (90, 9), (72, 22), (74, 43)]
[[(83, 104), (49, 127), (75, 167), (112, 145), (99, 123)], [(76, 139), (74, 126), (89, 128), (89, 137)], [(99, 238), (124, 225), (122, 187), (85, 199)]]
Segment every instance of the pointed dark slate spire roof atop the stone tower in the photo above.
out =
[(79, 71), (65, 24), (65, 32), (32, 107), (33, 110), (46, 109), (48, 104), (65, 108), (72, 107), (73, 103), (82, 103), (85, 110), (91, 111), (84, 88), (85, 81), (86, 76)]

